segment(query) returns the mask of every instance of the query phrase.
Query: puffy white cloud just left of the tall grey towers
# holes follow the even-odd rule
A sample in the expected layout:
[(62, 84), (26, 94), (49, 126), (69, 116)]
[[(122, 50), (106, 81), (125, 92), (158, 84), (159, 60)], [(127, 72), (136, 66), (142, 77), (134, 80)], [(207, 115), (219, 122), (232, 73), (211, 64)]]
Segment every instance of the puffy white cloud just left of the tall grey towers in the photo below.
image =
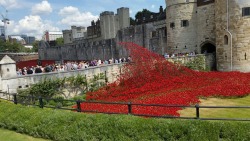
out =
[(90, 12), (81, 13), (78, 8), (68, 6), (59, 11), (59, 15), (62, 16), (62, 20), (59, 22), (64, 25), (75, 26), (89, 26), (92, 20), (97, 20), (98, 16), (93, 15)]

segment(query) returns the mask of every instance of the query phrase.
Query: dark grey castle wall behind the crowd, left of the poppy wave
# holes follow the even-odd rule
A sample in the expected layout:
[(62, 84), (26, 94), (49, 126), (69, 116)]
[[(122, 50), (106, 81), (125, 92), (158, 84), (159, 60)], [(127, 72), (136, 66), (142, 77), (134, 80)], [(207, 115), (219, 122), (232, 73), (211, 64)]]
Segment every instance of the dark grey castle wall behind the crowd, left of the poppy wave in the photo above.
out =
[[(40, 60), (108, 60), (110, 58), (118, 58), (119, 48), (116, 47), (115, 40), (91, 41), (83, 40), (72, 45), (64, 45), (60, 47), (39, 46)], [(127, 56), (123, 54), (122, 57)]]

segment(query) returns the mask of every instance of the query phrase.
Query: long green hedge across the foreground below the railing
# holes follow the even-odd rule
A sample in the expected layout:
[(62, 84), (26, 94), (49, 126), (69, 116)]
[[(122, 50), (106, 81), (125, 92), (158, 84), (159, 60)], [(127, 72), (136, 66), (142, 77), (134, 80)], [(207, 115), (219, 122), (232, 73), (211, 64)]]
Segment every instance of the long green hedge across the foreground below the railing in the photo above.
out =
[(250, 140), (250, 122), (83, 114), (0, 101), (0, 128), (56, 141)]

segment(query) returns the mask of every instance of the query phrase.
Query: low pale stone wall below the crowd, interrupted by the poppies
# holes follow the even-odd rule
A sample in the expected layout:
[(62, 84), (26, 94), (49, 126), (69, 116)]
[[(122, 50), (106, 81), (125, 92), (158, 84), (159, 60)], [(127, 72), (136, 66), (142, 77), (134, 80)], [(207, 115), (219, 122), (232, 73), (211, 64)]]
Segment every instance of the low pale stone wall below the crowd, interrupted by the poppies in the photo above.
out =
[[(213, 56), (212, 54), (208, 55), (197, 55), (202, 56), (204, 58), (204, 68), (212, 68), (213, 63)], [(196, 56), (185, 56), (185, 57), (173, 57), (168, 58), (167, 60), (170, 62), (178, 62), (182, 64), (186, 64), (189, 61), (195, 59)], [(32, 84), (38, 83), (44, 78), (64, 78), (70, 76), (86, 75), (88, 79), (91, 79), (94, 75), (98, 75), (100, 73), (106, 72), (108, 83), (112, 83), (119, 78), (120, 73), (122, 72), (122, 65), (123, 64), (110, 64), (98, 67), (90, 67), (87, 69), (82, 70), (75, 70), (75, 71), (64, 71), (64, 72), (50, 72), (50, 73), (42, 73), (42, 74), (32, 74), (32, 75), (24, 75), (24, 76), (17, 76), (16, 75), (16, 68), (14, 64), (5, 64), (0, 65), (2, 69), (1, 72), (3, 74), (0, 77), (0, 91), (8, 92), (8, 93), (16, 93), (17, 89), (28, 88)], [(9, 69), (10, 71), (7, 71)], [(5, 70), (5, 71), (4, 71)]]

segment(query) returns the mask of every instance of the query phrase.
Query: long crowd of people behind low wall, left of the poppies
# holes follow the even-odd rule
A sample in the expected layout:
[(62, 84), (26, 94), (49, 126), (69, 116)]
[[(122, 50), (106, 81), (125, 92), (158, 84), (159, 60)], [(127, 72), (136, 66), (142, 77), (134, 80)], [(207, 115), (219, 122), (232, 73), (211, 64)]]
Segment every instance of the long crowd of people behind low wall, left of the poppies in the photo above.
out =
[(92, 60), (92, 61), (67, 61), (64, 64), (46, 64), (45, 66), (27, 66), (23, 68), (17, 68), (17, 75), (31, 75), (39, 73), (49, 73), (49, 72), (62, 72), (71, 70), (80, 70), (93, 66), (102, 66), (107, 64), (119, 64), (124, 62), (131, 62), (131, 58), (120, 58), (120, 59), (109, 59), (109, 60)]

